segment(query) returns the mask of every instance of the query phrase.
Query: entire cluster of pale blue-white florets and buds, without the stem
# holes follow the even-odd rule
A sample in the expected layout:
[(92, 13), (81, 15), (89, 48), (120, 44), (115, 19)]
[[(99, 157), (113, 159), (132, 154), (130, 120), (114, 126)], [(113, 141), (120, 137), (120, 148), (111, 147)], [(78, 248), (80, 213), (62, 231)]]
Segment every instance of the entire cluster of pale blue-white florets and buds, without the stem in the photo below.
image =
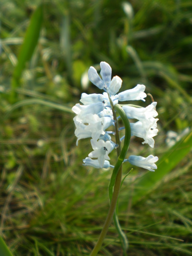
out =
[[(89, 80), (99, 89), (103, 89), (103, 94), (86, 94), (82, 93), (80, 102), (84, 105), (76, 104), (72, 110), (77, 115), (74, 117), (76, 125), (75, 135), (78, 141), (84, 138), (91, 138), (90, 142), (93, 151), (88, 154), (83, 162), (85, 166), (93, 166), (95, 168), (113, 167), (110, 165), (110, 157), (108, 154), (118, 145), (112, 140), (110, 134), (113, 131), (106, 131), (111, 125), (114, 125), (113, 111), (111, 105), (118, 102), (129, 100), (143, 100), (147, 96), (144, 93), (145, 85), (138, 84), (130, 90), (125, 90), (119, 94), (119, 89), (122, 85), (122, 79), (119, 76), (114, 76), (111, 80), (111, 67), (106, 62), (101, 62), (101, 77), (98, 75), (94, 67), (90, 67), (88, 71)], [(128, 119), (137, 119), (137, 122), (130, 123), (131, 136), (143, 138), (143, 144), (147, 143), (152, 148), (154, 147), (153, 137), (157, 135), (157, 118), (158, 115), (155, 107), (157, 102), (152, 102), (146, 108), (139, 106), (124, 105), (122, 109), (125, 111)], [(121, 128), (120, 128), (121, 129)], [(121, 139), (123, 140), (123, 138)], [(92, 159), (95, 158), (95, 159)], [(131, 155), (124, 162), (129, 161), (131, 164), (143, 167), (150, 171), (157, 169), (155, 162), (158, 157), (152, 155), (148, 157)]]

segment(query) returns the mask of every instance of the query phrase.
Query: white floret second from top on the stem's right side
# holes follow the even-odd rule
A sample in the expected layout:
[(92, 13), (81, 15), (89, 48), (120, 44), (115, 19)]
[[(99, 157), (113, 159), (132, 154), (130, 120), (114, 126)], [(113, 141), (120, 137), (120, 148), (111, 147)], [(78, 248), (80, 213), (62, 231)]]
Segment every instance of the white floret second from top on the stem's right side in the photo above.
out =
[(155, 111), (156, 105), (157, 102), (152, 102), (146, 108), (123, 106), (122, 109), (128, 118), (135, 118), (142, 122), (148, 122), (148, 120), (153, 122), (154, 117), (158, 115), (157, 111)]

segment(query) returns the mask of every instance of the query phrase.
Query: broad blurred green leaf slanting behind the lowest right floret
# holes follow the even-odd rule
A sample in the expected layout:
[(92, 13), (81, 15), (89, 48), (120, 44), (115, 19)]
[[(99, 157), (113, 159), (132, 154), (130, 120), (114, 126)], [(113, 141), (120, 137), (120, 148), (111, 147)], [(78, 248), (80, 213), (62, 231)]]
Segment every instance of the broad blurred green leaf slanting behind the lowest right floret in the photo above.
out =
[(161, 182), (162, 178), (183, 160), (192, 149), (192, 132), (178, 141), (168, 152), (163, 154), (157, 163), (155, 172), (146, 172), (135, 184), (132, 203), (135, 204), (141, 198), (154, 190)]

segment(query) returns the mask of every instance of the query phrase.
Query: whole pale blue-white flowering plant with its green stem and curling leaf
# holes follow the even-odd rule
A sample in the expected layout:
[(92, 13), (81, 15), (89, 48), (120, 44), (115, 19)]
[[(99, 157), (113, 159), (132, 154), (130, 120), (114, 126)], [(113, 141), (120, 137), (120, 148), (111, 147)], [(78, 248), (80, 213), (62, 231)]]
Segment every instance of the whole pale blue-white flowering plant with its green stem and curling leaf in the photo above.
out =
[[(149, 155), (148, 157), (130, 155), (125, 159), (131, 136), (143, 138), (142, 142), (147, 143), (150, 147), (154, 147), (153, 137), (157, 135), (157, 118), (158, 115), (155, 107), (157, 102), (152, 102), (146, 108), (137, 105), (119, 105), (118, 102), (142, 100), (145, 101), (147, 96), (144, 93), (145, 85), (137, 84), (136, 87), (124, 92), (118, 93), (122, 85), (122, 79), (119, 76), (114, 76), (111, 80), (111, 67), (106, 62), (101, 62), (101, 77), (98, 75), (94, 67), (90, 67), (88, 71), (89, 80), (99, 89), (104, 90), (103, 94), (86, 94), (82, 93), (80, 102), (83, 105), (76, 104), (72, 110), (77, 115), (74, 117), (76, 125), (75, 135), (78, 141), (84, 138), (91, 138), (90, 143), (93, 148), (83, 160), (85, 166), (93, 166), (95, 168), (113, 168), (111, 180), (108, 187), (110, 208), (106, 218), (104, 227), (99, 236), (91, 256), (97, 255), (102, 242), (105, 239), (108, 227), (111, 224), (112, 218), (116, 230), (119, 234), (124, 255), (128, 248), (128, 240), (122, 232), (117, 217), (117, 199), (122, 180), (122, 163), (129, 162), (132, 165), (148, 169), (154, 172), (157, 169), (155, 162), (158, 157)], [(118, 93), (118, 94), (116, 94)], [(119, 115), (117, 115), (119, 114)], [(122, 119), (124, 127), (118, 125), (119, 118)], [(129, 119), (137, 119), (137, 122), (129, 122)], [(115, 131), (106, 131), (109, 127), (114, 126)], [(125, 129), (125, 136), (120, 138), (119, 131)], [(111, 136), (115, 136), (115, 141)], [(121, 142), (124, 140), (121, 149)], [(116, 148), (117, 161), (115, 166), (112, 166), (109, 154)]]

